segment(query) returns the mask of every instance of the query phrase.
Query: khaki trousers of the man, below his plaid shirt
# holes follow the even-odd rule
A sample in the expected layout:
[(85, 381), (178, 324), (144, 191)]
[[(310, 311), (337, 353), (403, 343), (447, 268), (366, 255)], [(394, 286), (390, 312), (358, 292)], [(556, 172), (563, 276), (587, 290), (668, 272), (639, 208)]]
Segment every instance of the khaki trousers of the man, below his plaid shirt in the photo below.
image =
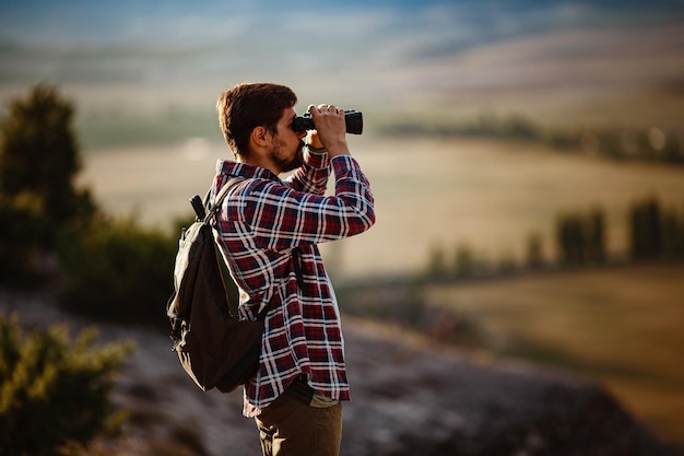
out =
[(263, 456), (338, 456), (342, 404), (316, 408), (282, 394), (255, 418)]

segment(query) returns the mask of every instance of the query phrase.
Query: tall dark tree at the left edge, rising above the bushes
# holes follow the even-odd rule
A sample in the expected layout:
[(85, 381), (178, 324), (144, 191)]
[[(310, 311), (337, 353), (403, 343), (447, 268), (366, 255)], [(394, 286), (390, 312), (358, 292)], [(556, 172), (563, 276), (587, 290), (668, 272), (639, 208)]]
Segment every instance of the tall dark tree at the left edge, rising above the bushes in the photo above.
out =
[(0, 280), (16, 284), (48, 271), (59, 235), (85, 226), (96, 207), (74, 186), (81, 157), (71, 103), (40, 84), (8, 112), (0, 125)]

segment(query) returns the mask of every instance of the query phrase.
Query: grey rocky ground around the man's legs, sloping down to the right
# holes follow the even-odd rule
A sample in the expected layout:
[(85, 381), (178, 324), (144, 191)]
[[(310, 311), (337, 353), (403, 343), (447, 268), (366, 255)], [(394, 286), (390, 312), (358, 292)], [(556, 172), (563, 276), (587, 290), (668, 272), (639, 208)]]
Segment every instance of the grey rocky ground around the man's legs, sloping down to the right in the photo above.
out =
[[(0, 311), (17, 313), (26, 329), (90, 325), (49, 301), (0, 292)], [(201, 391), (162, 332), (97, 326), (103, 341), (137, 346), (116, 390), (129, 423), (118, 441), (97, 446), (99, 454), (260, 454), (240, 393)], [(353, 401), (344, 405), (342, 455), (681, 455), (582, 378), (477, 358), (356, 318), (344, 317), (343, 326)]]

